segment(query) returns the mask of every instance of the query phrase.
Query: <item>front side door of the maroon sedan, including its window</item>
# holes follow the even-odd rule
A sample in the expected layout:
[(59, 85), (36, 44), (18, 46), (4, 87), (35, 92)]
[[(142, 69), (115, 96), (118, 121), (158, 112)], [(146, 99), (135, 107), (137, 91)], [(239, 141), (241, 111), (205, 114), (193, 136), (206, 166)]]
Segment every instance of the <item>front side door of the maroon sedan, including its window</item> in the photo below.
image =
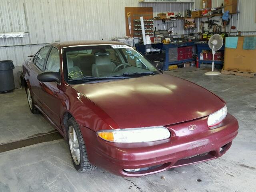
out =
[[(46, 58), (44, 71), (54, 71), (60, 73), (60, 54), (57, 48), (51, 47)], [(60, 100), (58, 98), (61, 83), (60, 82), (38, 82), (39, 98), (42, 103), (42, 110), (52, 120), (52, 122), (60, 127)]]

